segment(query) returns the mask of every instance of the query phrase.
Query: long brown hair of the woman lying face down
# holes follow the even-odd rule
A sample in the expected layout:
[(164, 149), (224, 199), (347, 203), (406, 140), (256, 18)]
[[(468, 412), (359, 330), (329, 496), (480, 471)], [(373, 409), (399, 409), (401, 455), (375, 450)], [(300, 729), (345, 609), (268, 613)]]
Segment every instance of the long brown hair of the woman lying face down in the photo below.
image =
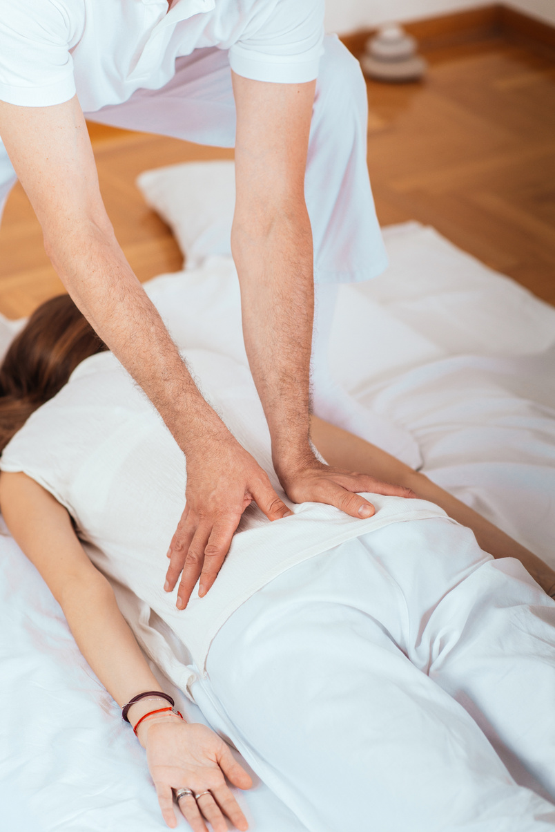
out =
[(105, 349), (69, 295), (40, 305), (0, 366), (0, 453), (33, 411), (61, 390), (77, 364)]

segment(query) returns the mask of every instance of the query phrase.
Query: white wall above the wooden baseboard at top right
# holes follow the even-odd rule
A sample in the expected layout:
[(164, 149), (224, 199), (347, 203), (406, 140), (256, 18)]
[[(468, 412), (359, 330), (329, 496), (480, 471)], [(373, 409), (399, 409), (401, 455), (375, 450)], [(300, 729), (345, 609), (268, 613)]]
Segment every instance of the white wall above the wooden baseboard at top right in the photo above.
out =
[[(353, 32), (388, 21), (419, 20), (437, 14), (489, 6), (493, 0), (326, 0), (328, 32)], [(555, 0), (506, 0), (522, 12), (555, 25)]]

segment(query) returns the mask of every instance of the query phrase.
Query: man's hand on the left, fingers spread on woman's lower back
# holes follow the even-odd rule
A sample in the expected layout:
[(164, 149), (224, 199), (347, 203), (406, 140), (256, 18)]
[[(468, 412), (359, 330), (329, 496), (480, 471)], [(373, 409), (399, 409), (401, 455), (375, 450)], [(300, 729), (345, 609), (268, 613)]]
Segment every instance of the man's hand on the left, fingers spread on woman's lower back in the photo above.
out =
[(231, 433), (210, 436), (187, 454), (187, 504), (169, 544), (165, 590), (181, 575), (177, 607), (184, 609), (200, 577), (199, 596), (212, 586), (243, 511), (254, 502), (268, 520), (291, 514), (268, 474)]

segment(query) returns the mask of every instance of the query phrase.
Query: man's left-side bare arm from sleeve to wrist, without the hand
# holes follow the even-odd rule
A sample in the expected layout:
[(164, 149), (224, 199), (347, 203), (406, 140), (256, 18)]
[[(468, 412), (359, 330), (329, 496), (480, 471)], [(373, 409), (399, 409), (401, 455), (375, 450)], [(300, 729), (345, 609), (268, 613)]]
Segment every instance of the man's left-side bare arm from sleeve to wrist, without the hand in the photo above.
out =
[[(217, 417), (115, 240), (77, 99), (48, 107), (1, 103), (0, 125), (47, 254), (76, 305), (145, 389), (180, 447), (198, 432), (200, 419), (217, 429)], [(189, 420), (179, 418), (185, 410)]]

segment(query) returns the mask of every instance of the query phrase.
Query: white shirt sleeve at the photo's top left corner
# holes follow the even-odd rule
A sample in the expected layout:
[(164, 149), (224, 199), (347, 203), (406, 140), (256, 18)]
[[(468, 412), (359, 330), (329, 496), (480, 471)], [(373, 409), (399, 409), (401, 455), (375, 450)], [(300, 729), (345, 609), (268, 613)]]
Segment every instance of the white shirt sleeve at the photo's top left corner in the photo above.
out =
[(0, 101), (50, 106), (75, 95), (71, 29), (56, 0), (0, 0)]

